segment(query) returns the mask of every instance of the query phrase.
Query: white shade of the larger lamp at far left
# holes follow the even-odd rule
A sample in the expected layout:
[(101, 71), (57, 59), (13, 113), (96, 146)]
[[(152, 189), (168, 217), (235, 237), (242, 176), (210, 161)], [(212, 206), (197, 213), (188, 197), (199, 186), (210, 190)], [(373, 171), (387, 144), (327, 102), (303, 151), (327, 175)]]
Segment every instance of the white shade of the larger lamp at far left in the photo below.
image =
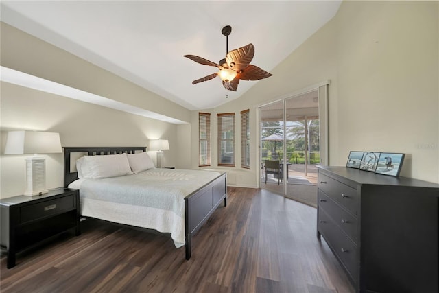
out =
[(62, 152), (60, 134), (40, 131), (10, 131), (5, 154), (49, 154)]

